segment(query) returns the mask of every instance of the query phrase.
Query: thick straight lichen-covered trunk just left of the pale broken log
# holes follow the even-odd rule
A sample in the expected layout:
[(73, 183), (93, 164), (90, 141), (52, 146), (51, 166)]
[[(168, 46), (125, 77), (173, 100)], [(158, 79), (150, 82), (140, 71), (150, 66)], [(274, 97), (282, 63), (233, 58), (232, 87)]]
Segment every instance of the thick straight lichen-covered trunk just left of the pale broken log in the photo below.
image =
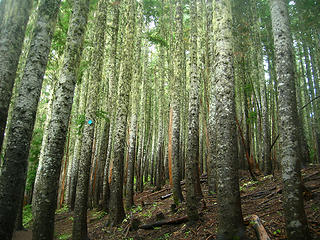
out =
[(215, 0), (213, 8), (215, 104), (210, 111), (215, 112), (217, 134), (218, 235), (223, 239), (245, 239), (238, 179), (231, 1)]

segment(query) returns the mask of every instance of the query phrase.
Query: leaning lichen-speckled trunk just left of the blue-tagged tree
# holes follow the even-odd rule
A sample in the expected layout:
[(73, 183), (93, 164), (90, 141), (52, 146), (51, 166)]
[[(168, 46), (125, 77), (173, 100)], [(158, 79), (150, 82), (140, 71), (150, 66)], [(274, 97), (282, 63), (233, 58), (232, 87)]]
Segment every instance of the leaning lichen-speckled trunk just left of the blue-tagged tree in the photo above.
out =
[(61, 161), (64, 154), (88, 11), (88, 2), (74, 2), (63, 65), (55, 91), (52, 116), (48, 125), (47, 142), (44, 144), (44, 155), (42, 163), (39, 164), (35, 182), (33, 240), (53, 239), (54, 237), (54, 214)]

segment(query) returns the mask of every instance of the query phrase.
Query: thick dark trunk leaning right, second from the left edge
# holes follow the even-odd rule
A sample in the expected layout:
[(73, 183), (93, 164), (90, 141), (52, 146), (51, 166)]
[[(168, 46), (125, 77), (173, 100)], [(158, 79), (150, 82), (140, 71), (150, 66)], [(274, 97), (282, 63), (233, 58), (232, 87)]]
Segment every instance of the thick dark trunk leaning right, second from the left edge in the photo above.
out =
[(0, 177), (0, 238), (4, 240), (12, 237), (21, 203), (30, 141), (59, 5), (58, 0), (40, 2), (19, 95), (13, 109)]

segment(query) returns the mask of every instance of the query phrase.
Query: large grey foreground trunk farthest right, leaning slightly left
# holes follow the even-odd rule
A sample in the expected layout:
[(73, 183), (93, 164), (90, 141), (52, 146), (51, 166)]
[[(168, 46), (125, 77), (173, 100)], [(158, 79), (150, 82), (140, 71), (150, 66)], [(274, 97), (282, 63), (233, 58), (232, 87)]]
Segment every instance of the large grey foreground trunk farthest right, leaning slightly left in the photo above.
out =
[(310, 239), (301, 190), (294, 56), (287, 1), (270, 0), (279, 90), (283, 208), (288, 239)]

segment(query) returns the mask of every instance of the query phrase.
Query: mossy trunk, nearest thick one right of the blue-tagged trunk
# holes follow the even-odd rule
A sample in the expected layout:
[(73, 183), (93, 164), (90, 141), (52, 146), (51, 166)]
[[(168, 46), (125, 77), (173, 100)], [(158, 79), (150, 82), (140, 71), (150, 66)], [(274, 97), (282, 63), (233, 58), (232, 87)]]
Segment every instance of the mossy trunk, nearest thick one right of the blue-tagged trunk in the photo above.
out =
[(110, 194), (110, 219), (111, 226), (118, 225), (125, 217), (123, 207), (123, 167), (126, 140), (126, 125), (129, 106), (130, 85), (132, 81), (132, 49), (134, 49), (134, 15), (135, 3), (133, 0), (124, 2), (127, 11), (124, 16), (125, 38), (123, 45), (122, 64), (119, 76), (119, 92), (117, 101), (115, 138), (113, 147), (113, 171)]

